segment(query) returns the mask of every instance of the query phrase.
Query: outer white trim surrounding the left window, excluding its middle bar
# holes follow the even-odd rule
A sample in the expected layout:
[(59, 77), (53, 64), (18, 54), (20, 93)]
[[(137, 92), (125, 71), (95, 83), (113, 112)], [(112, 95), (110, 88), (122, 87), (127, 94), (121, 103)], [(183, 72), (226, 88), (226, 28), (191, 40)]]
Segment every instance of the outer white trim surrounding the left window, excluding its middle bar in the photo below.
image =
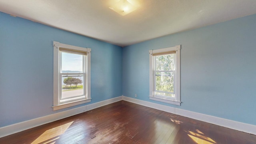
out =
[[(62, 108), (68, 108), (70, 106), (76, 106), (78, 104), (84, 104), (87, 102), (91, 102), (91, 49), (90, 48), (82, 48), (78, 46), (72, 46), (68, 44), (62, 44), (60, 42), (53, 42), (53, 48), (54, 48), (54, 58), (53, 58), (53, 110), (60, 110)], [(82, 100), (67, 102), (67, 103), (60, 103), (59, 98), (59, 92), (60, 92), (60, 86), (59, 86), (59, 71), (60, 71), (60, 65), (59, 65), (59, 59), (60, 59), (60, 52), (59, 48), (65, 48), (68, 50), (74, 50), (74, 51), (81, 51), (81, 52), (87, 52), (86, 55), (86, 98)]]

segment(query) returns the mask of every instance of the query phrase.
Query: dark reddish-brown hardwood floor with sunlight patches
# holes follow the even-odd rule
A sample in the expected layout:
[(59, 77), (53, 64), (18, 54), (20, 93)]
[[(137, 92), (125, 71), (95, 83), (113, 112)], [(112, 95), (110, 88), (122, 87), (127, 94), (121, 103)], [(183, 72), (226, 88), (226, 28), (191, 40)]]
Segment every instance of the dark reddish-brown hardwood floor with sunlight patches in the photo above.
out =
[(256, 144), (255, 135), (170, 115), (120, 101), (0, 138), (0, 144)]

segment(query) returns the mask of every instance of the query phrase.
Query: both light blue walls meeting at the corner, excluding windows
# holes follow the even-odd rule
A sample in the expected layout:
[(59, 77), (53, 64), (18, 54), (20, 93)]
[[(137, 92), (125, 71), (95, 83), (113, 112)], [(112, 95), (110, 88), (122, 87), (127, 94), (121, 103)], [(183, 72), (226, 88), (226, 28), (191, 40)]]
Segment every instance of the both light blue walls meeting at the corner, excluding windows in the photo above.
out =
[(121, 48), (0, 12), (0, 127), (54, 114), (53, 41), (92, 48), (92, 104), (149, 100), (148, 50), (181, 44), (181, 106), (256, 125), (256, 15)]

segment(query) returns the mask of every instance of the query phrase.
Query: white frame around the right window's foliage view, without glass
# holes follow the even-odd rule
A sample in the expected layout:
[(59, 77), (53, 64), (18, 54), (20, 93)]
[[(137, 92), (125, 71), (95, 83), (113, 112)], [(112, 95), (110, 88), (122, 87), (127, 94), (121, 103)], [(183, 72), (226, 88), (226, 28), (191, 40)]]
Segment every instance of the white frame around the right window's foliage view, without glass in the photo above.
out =
[[(163, 98), (155, 95), (155, 75), (154, 75), (154, 56), (155, 53), (164, 53), (170, 51), (175, 53), (174, 66), (174, 98)], [(149, 50), (149, 99), (180, 106), (180, 45), (170, 48), (161, 48), (157, 50)]]

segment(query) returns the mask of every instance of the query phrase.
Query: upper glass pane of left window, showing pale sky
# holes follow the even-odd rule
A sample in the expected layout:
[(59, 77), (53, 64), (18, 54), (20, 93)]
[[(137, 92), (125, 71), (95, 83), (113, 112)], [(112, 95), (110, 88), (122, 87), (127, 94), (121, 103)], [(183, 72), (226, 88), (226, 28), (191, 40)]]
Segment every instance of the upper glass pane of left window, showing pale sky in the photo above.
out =
[(81, 54), (61, 52), (62, 73), (82, 73), (83, 56)]

